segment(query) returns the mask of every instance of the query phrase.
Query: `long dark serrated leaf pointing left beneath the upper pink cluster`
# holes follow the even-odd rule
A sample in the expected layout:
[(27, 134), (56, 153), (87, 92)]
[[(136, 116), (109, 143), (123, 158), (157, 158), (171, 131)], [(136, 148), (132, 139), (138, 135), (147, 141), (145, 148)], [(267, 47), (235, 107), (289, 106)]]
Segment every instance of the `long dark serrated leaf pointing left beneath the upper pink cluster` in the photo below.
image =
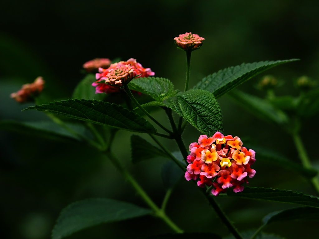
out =
[(54, 103), (35, 105), (24, 110), (52, 112), (77, 120), (84, 120), (94, 124), (108, 125), (141, 133), (155, 133), (156, 129), (143, 117), (108, 102), (84, 99), (69, 99)]

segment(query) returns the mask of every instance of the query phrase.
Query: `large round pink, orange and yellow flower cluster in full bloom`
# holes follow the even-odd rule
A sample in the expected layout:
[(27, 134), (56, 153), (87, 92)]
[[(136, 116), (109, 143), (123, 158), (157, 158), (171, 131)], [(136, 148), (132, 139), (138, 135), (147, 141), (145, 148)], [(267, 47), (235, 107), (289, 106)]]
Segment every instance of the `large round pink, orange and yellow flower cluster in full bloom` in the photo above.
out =
[(255, 151), (242, 146), (239, 137), (217, 132), (212, 137), (199, 136), (198, 143), (189, 145), (185, 178), (198, 180), (197, 186), (213, 186), (211, 193), (218, 196), (227, 188), (242, 192), (256, 171), (250, 166), (255, 163)]

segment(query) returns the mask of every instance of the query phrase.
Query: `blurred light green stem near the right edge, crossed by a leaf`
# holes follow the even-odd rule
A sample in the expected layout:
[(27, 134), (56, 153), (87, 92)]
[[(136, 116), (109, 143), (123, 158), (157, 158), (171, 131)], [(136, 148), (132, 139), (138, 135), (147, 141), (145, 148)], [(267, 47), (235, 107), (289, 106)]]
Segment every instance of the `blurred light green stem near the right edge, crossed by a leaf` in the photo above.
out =
[[(293, 141), (294, 141), (295, 146), (297, 148), (302, 165), (307, 169), (312, 169), (310, 160), (308, 158), (306, 149), (303, 145), (303, 142), (300, 138), (300, 135), (297, 132), (293, 132), (292, 136), (293, 136)], [(318, 180), (318, 178), (313, 177), (310, 179), (310, 182), (311, 182), (312, 186), (315, 188), (315, 190), (317, 191), (317, 193), (319, 193), (319, 180)]]

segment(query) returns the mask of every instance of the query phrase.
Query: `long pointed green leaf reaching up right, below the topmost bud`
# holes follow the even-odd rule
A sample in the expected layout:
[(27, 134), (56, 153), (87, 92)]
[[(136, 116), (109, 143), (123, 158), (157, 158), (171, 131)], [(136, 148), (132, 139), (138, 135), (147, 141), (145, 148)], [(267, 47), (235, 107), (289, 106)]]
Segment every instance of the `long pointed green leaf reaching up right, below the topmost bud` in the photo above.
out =
[(239, 66), (232, 66), (223, 70), (219, 70), (209, 76), (204, 77), (194, 89), (202, 89), (209, 91), (219, 98), (236, 86), (244, 83), (253, 76), (287, 62), (298, 61), (299, 59), (291, 59), (284, 61), (265, 61), (254, 63), (242, 63)]

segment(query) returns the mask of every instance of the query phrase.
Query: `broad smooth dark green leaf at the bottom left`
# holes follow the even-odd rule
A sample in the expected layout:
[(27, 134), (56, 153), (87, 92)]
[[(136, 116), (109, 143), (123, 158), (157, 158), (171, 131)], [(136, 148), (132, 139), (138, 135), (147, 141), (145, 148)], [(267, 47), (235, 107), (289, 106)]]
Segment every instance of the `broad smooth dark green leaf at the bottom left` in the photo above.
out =
[(151, 212), (150, 209), (113, 199), (78, 201), (63, 209), (52, 231), (52, 239), (61, 239), (101, 223), (122, 221)]

